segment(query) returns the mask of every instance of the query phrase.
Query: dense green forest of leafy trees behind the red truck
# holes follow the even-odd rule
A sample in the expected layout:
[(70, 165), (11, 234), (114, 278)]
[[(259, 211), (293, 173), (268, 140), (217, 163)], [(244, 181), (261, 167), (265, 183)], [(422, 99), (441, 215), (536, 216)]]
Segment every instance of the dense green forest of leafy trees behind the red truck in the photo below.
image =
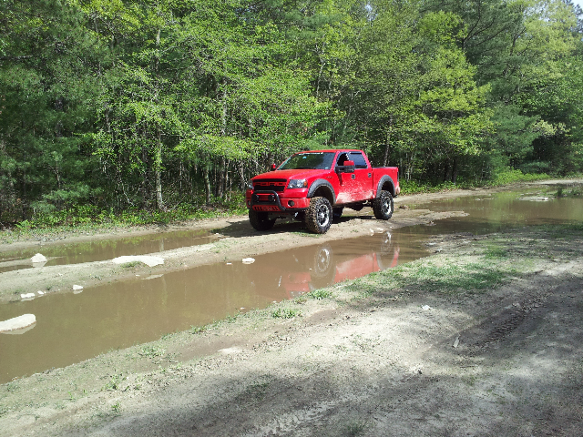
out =
[(570, 0), (3, 0), (0, 222), (237, 201), (292, 152), (405, 184), (583, 170)]

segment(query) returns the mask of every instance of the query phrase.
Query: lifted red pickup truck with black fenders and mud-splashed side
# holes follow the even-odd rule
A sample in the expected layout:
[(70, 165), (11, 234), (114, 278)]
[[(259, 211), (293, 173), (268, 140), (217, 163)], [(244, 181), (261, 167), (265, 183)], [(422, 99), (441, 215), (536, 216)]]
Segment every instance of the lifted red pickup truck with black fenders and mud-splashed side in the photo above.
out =
[(371, 206), (377, 219), (391, 219), (400, 191), (398, 169), (372, 168), (362, 150), (314, 150), (296, 153), (252, 178), (245, 200), (257, 230), (292, 217), (323, 234), (344, 207), (360, 211)]

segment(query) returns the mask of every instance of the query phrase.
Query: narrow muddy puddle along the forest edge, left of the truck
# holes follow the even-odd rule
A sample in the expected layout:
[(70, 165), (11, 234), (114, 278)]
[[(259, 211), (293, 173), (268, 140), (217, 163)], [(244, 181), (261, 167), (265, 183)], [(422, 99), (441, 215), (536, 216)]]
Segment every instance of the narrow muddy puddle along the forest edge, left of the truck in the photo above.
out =
[(41, 253), (48, 259), (45, 264), (42, 264), (43, 266), (56, 266), (102, 261), (124, 255), (144, 255), (212, 243), (217, 239), (220, 239), (220, 236), (204, 230), (180, 230), (142, 237), (104, 239), (71, 244), (61, 242), (39, 245), (35, 249), (0, 251), (0, 273), (36, 267), (31, 261), (36, 253)]

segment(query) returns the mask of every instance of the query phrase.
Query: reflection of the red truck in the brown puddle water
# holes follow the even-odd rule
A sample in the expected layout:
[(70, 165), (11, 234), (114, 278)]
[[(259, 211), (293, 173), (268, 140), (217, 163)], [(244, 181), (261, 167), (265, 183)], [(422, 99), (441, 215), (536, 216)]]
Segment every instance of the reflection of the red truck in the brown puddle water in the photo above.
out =
[[(399, 259), (399, 247), (392, 243), (389, 232), (383, 234), (378, 246), (357, 250), (356, 254), (345, 248), (332, 249), (337, 243), (296, 249), (285, 256), (281, 254), (285, 259), (278, 259), (274, 264), (285, 266), (280, 273), (275, 267), (263, 265), (261, 275), (252, 273), (253, 281), (258, 290), (273, 290), (275, 287), (284, 293), (281, 298), (293, 299), (305, 292), (321, 289), (336, 282), (361, 278), (374, 271), (393, 268)], [(260, 277), (269, 280), (270, 283), (264, 283)]]

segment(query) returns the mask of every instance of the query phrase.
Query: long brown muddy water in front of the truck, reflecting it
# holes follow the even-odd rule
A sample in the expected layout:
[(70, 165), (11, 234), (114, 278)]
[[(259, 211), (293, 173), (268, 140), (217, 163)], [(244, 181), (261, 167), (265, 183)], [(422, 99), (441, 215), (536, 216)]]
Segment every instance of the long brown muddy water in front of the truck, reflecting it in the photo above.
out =
[[(79, 294), (49, 294), (0, 305), (0, 320), (25, 313), (35, 314), (37, 320), (20, 334), (0, 334), (0, 383), (422, 258), (428, 255), (424, 240), (432, 235), (580, 223), (583, 218), (583, 198), (551, 198), (540, 191), (457, 198), (414, 208), (463, 210), (468, 216), (256, 256), (252, 264), (239, 260), (200, 266)], [(376, 229), (374, 221), (371, 228)]]

